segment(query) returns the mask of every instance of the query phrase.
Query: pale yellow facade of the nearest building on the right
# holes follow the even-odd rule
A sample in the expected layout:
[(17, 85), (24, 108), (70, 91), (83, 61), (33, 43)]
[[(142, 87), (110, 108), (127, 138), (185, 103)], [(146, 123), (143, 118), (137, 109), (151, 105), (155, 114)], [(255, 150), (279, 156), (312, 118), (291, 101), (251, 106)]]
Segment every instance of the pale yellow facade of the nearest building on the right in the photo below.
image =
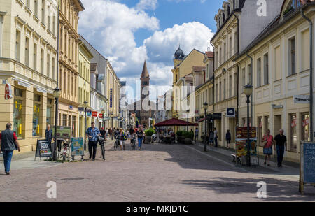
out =
[[(245, 71), (240, 74), (241, 86), (252, 80), (249, 83), (253, 85), (253, 125), (258, 127), (258, 143), (267, 129), (273, 136), (284, 129), (288, 139), (285, 160), (294, 162), (300, 160), (301, 142), (309, 141), (310, 123), (309, 104), (293, 100), (293, 96), (309, 95), (309, 22), (302, 17), (301, 8), (314, 23), (314, 5), (284, 1), (278, 19), (236, 59), (237, 66)], [(252, 75), (246, 73), (251, 59), (245, 52), (253, 58)], [(244, 94), (240, 95), (239, 121), (246, 121)]]

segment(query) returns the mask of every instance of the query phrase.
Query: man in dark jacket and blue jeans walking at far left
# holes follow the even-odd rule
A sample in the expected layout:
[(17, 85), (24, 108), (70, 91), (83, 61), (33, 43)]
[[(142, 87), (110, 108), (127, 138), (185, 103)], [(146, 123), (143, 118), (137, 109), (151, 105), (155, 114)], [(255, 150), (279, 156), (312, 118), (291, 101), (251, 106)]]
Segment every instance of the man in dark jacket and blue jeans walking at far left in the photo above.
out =
[(6, 175), (10, 175), (10, 166), (11, 166), (11, 159), (13, 156), (13, 151), (20, 150), (20, 145), (18, 143), (18, 138), (11, 130), (12, 124), (6, 124), (6, 130), (2, 131), (0, 134), (0, 145), (1, 151), (3, 152), (3, 162), (4, 162), (4, 171)]

